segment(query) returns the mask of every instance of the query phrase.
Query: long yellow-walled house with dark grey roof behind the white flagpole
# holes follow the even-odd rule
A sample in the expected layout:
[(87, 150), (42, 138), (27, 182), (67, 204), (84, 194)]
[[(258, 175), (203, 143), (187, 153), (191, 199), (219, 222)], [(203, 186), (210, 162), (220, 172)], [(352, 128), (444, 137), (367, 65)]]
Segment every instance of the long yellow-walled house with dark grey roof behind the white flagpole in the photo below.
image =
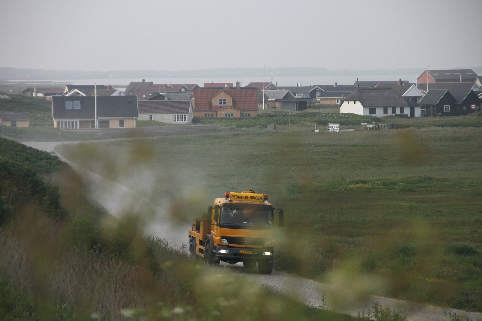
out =
[[(94, 96), (53, 96), (55, 128), (95, 128)], [(97, 96), (98, 128), (133, 128), (137, 113), (136, 96)]]

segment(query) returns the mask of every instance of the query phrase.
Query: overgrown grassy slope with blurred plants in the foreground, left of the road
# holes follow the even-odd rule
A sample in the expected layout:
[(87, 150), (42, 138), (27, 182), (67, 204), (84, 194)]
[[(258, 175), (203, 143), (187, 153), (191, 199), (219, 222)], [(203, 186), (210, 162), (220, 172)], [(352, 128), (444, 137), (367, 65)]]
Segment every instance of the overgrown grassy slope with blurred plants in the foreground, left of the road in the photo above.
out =
[(0, 169), (2, 321), (354, 319), (145, 236), (135, 213), (113, 218), (89, 201), (57, 156), (2, 140)]

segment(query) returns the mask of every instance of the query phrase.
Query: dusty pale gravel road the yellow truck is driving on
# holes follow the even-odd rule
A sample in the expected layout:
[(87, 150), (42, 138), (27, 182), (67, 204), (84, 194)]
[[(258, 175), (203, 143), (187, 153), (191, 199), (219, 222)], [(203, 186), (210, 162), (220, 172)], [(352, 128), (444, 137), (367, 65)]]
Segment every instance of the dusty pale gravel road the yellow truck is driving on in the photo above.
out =
[[(54, 147), (61, 143), (62, 142), (60, 141), (49, 141), (26, 142), (24, 144), (40, 150), (52, 152), (54, 151)], [(132, 191), (119, 183), (106, 180), (102, 176), (68, 161), (61, 155), (59, 155), (59, 157), (80, 174), (84, 182), (89, 186), (92, 198), (99, 204), (104, 205), (111, 214), (122, 215), (128, 210), (132, 211), (136, 210), (136, 208), (138, 210), (141, 210), (142, 208), (142, 210), (145, 211), (146, 206), (151, 206), (151, 210), (155, 213), (155, 217), (152, 218), (151, 223), (148, 225), (147, 233), (165, 238), (172, 244), (182, 245), (187, 243), (187, 229), (190, 226), (173, 224), (161, 207), (152, 205), (139, 193)], [(330, 286), (328, 284), (322, 284), (320, 282), (276, 270), (273, 270), (273, 273), (269, 275), (248, 272), (244, 270), (241, 263), (233, 266), (222, 263), (221, 267), (229, 269), (241, 277), (246, 277), (259, 284), (266, 285), (283, 294), (291, 295), (312, 307), (320, 307), (322, 305), (322, 295), (326, 294), (326, 308), (335, 309), (338, 312), (347, 313), (353, 316), (356, 316), (359, 312), (368, 311), (368, 309), (372, 307), (373, 302), (378, 302), (379, 304), (385, 304), (392, 309), (405, 310), (408, 313), (408, 320), (410, 321), (442, 321), (444, 320), (444, 311), (460, 314), (460, 320), (466, 320), (467, 318), (472, 319), (473, 321), (476, 321), (477, 319), (482, 320), (482, 313), (439, 308), (379, 296), (369, 296), (362, 302), (351, 303), (349, 307), (345, 308), (334, 307), (330, 302), (332, 296), (330, 295)]]

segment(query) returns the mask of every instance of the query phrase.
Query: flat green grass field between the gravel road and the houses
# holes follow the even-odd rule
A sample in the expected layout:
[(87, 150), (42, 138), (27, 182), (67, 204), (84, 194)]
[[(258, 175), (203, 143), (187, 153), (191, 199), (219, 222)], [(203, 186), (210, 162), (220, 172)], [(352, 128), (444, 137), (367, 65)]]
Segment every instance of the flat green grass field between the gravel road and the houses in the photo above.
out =
[(59, 152), (167, 202), (186, 221), (226, 191), (268, 193), (286, 213), (277, 269), (335, 288), (372, 278), (374, 293), (481, 311), (481, 134), (461, 127), (329, 134), (300, 123)]

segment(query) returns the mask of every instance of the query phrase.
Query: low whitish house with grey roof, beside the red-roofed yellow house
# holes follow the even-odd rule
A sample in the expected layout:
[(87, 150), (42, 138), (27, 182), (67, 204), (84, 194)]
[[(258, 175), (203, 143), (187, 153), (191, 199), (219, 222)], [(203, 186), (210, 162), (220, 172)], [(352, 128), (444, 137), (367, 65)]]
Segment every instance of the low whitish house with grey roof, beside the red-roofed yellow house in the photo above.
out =
[(194, 108), (190, 100), (142, 100), (137, 102), (138, 120), (157, 120), (162, 123), (190, 123)]

